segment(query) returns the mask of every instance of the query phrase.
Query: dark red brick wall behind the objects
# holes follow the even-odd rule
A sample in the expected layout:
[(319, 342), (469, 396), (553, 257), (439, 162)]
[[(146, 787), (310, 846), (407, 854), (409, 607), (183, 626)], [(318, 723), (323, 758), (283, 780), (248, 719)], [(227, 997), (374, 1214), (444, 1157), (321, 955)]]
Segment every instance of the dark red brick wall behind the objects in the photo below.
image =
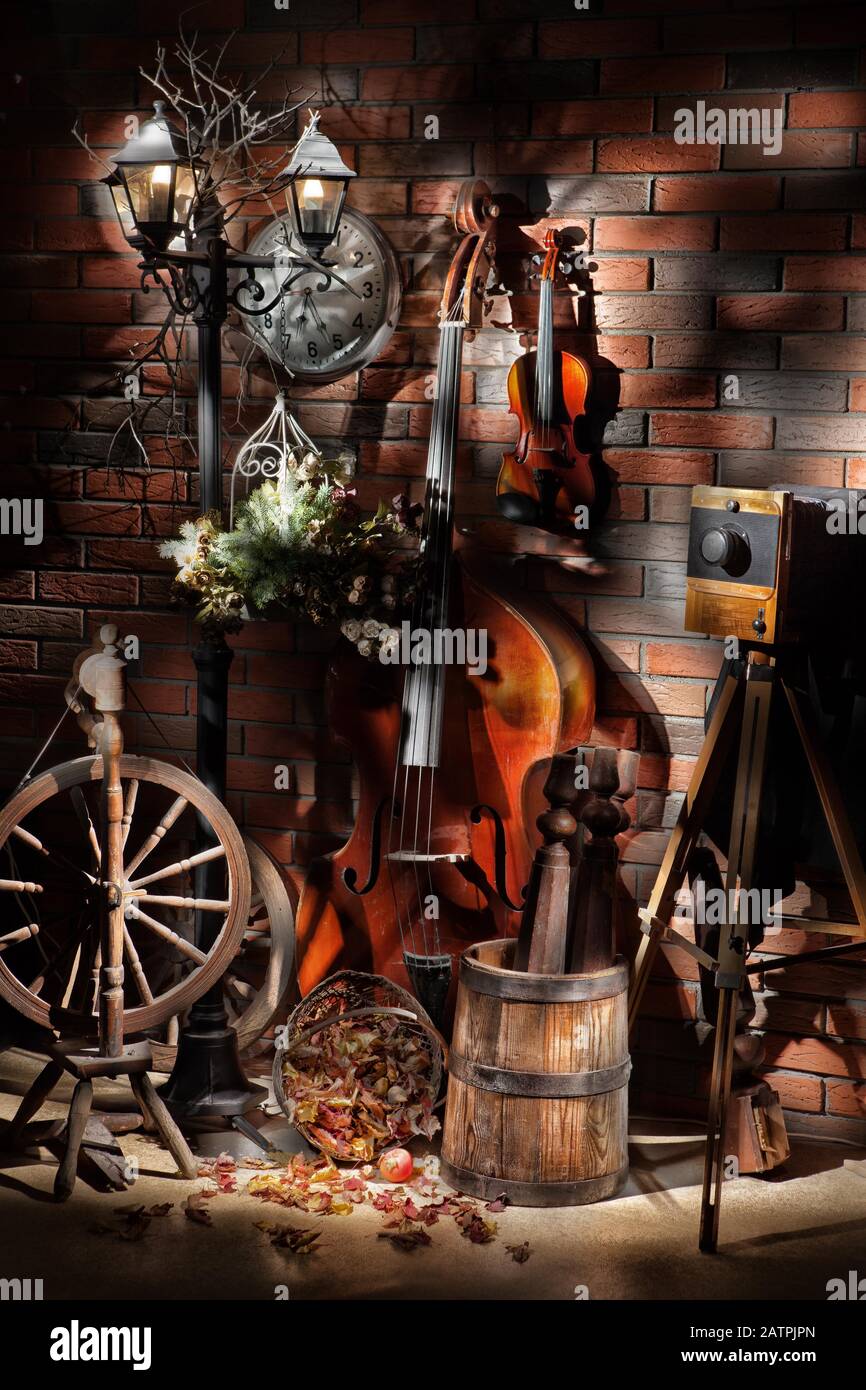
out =
[[(106, 617), (142, 638), (136, 689), (165, 738), (186, 755), (193, 745), (188, 620), (170, 606), (153, 537), (190, 514), (195, 475), (175, 480), (150, 441), (152, 471), (121, 482), (104, 463), (117, 399), (79, 409), (160, 309), (142, 295), (93, 188), (100, 174), (70, 135), (81, 113), (96, 146), (121, 143), (122, 117), (143, 114), (150, 96), (138, 67), (172, 36), (181, 8), (33, 0), (4, 13), (4, 495), (42, 488), (50, 499), (39, 550), (4, 541), (0, 734), (11, 781), (56, 719), (74, 653)], [(487, 177), (537, 218), (585, 231), (589, 293), (578, 325), (573, 300), (559, 296), (557, 321), (560, 345), (594, 361), (602, 396), (619, 391), (605, 438), (616, 488), (594, 545), (603, 563), (594, 574), (564, 570), (555, 556), (567, 546), (531, 532), (518, 543), (525, 581), (587, 624), (599, 659), (595, 738), (642, 751), (623, 880), (645, 901), (719, 664), (713, 644), (683, 634), (691, 485), (783, 475), (866, 485), (862, 6), (605, 0), (577, 13), (571, 0), (291, 0), (288, 10), (210, 0), (199, 25), (214, 42), (238, 28), (238, 63), (250, 67), (282, 49), (264, 97), (284, 78), (310, 92), (324, 85), (322, 125), (360, 175), (352, 200), (403, 261), (402, 324), (382, 360), (360, 379), (296, 392), (313, 434), (359, 445), (364, 500), (407, 478), (420, 488), (430, 425), (420, 378), (435, 361), (453, 245), (443, 214), (459, 181)], [(674, 113), (699, 97), (781, 106), (781, 154), (677, 145)], [(424, 139), (431, 114), (438, 140)], [(514, 288), (514, 322), (531, 327), (534, 300)], [(513, 439), (505, 375), (517, 350), (506, 332), (467, 350), (460, 520), (498, 548), (517, 543), (492, 505)], [(731, 374), (737, 400), (721, 395)], [(352, 769), (324, 721), (328, 641), (250, 624), (235, 645), (231, 808), (300, 877), (353, 815)], [(142, 717), (132, 724), (139, 748), (160, 746)], [(272, 791), (275, 762), (292, 766), (291, 792)], [(801, 945), (794, 933), (771, 942)], [(773, 1077), (798, 1129), (866, 1134), (865, 972), (783, 973), (759, 998)], [(638, 1104), (703, 1109), (695, 1001), (691, 959), (663, 951), (638, 1038)]]

